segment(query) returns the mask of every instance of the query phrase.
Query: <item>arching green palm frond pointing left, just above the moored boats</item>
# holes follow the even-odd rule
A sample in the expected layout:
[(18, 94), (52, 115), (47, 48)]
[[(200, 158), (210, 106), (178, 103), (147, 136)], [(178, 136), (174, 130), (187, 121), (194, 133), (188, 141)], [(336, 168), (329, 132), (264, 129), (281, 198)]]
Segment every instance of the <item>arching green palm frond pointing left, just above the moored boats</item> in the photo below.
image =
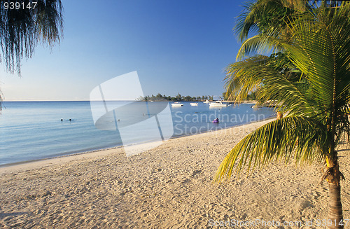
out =
[(276, 100), (280, 110), (289, 111), (290, 115), (312, 116), (316, 107), (311, 106), (309, 98), (295, 85), (267, 63), (268, 57), (255, 55), (244, 61), (230, 64), (226, 69), (227, 95), (239, 102), (246, 99), (248, 93), (258, 90), (258, 99)]

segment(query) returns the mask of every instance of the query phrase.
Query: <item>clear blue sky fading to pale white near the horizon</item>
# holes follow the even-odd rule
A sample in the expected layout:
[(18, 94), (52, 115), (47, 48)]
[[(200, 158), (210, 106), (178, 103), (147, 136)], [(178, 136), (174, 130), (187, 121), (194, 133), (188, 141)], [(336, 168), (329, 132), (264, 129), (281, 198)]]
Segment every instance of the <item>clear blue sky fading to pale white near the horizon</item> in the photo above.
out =
[(89, 100), (91, 90), (137, 71), (144, 95), (221, 95), (240, 43), (232, 32), (244, 1), (71, 1), (64, 38), (38, 46), (22, 78), (1, 69), (6, 101)]

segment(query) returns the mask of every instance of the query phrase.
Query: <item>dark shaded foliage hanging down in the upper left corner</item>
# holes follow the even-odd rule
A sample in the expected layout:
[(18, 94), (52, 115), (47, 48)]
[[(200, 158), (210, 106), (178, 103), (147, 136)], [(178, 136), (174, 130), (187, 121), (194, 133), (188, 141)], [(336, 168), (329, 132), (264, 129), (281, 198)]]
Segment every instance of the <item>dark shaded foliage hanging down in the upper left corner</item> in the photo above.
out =
[[(50, 47), (59, 42), (63, 31), (61, 0), (13, 1), (22, 7), (18, 10), (0, 7), (0, 46), (6, 70), (20, 75), (21, 60), (30, 58), (38, 43)], [(29, 8), (30, 7), (30, 8)], [(0, 91), (1, 92), (1, 91)], [(2, 97), (0, 95), (0, 111)]]

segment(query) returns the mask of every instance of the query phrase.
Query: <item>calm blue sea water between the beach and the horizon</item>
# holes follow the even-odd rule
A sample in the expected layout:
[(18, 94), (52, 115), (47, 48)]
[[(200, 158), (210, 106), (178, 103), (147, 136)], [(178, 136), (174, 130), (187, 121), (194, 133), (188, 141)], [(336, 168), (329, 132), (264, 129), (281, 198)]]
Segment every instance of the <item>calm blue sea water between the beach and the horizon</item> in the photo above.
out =
[[(275, 114), (270, 108), (252, 109), (251, 104), (209, 108), (208, 104), (202, 102), (198, 106), (190, 106), (190, 102), (182, 103), (180, 107), (171, 106), (172, 102), (166, 103), (169, 110), (166, 115), (172, 121), (172, 128), (168, 128), (172, 130), (172, 137), (250, 123)], [(155, 110), (163, 109), (164, 102), (162, 108), (158, 106), (158, 102), (148, 102), (146, 113), (143, 113), (144, 120), (151, 117), (152, 107)], [(132, 126), (132, 123), (125, 124), (126, 119), (137, 119), (134, 110), (127, 109), (125, 112), (127, 118), (118, 118), (117, 123), (105, 123), (111, 128), (97, 128), (90, 102), (87, 101), (3, 102), (0, 115), (0, 165), (121, 146), (124, 132), (118, 131), (116, 126)], [(219, 118), (220, 123), (212, 123), (214, 118)], [(157, 120), (162, 123), (165, 118), (159, 115)], [(142, 127), (142, 123), (146, 122), (140, 123)], [(149, 131), (145, 125), (141, 132), (129, 132), (128, 142), (143, 141), (144, 136), (151, 135)], [(163, 128), (162, 132), (166, 130)]]

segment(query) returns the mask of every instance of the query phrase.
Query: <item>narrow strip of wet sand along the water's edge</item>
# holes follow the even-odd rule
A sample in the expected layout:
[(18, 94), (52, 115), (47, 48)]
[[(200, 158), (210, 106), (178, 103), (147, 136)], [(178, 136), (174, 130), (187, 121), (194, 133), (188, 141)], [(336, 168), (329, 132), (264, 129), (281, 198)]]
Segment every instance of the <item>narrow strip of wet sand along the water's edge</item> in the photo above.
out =
[[(274, 118), (276, 118), (276, 116), (270, 116), (270, 117), (265, 118), (263, 120), (255, 120), (255, 121), (252, 121), (251, 123), (260, 123), (260, 122), (263, 122), (265, 120), (272, 120)], [(207, 131), (200, 132), (200, 133), (197, 133), (197, 134), (182, 134), (182, 135), (179, 135), (179, 136), (174, 136), (171, 139), (179, 139), (179, 138), (194, 136), (194, 135), (198, 135), (198, 134), (206, 134), (208, 132), (216, 132), (216, 131), (221, 131), (221, 130), (228, 130), (228, 129), (235, 128), (235, 127), (241, 127), (241, 126), (244, 126), (244, 125), (249, 125), (251, 123), (238, 124), (238, 125), (234, 125), (234, 126), (231, 126), (231, 127), (225, 127), (223, 129), (220, 129), (220, 130), (207, 130)], [(169, 140), (170, 139), (168, 139), (167, 141), (169, 141)], [(78, 152), (78, 153), (64, 153), (62, 155), (57, 155), (57, 156), (51, 157), (51, 158), (41, 158), (41, 159), (36, 159), (36, 160), (25, 160), (25, 161), (21, 161), (21, 162), (8, 163), (8, 164), (0, 165), (0, 174), (3, 173), (3, 170), (7, 170), (6, 168), (8, 168), (8, 167), (26, 167), (25, 165), (27, 165), (27, 164), (29, 164), (29, 167), (32, 167), (31, 164), (33, 164), (33, 165), (50, 165), (50, 163), (52, 163), (51, 161), (50, 162), (45, 162), (45, 161), (46, 160), (53, 160), (53, 161), (59, 160), (59, 161), (66, 162), (66, 161), (69, 161), (69, 159), (66, 159), (67, 157), (83, 158), (83, 156), (81, 156), (81, 155), (87, 155), (87, 154), (90, 154), (90, 153), (98, 154), (101, 151), (109, 152), (109, 151), (112, 151), (112, 150), (118, 149), (118, 148), (123, 148), (123, 145), (121, 145), (121, 146), (113, 146), (113, 147), (109, 147), (109, 148), (100, 148), (100, 149), (96, 149), (96, 150), (92, 150), (92, 151), (81, 151), (81, 152)], [(75, 160), (75, 159), (72, 158), (72, 160)], [(8, 170), (10, 170), (10, 169), (8, 169)]]

